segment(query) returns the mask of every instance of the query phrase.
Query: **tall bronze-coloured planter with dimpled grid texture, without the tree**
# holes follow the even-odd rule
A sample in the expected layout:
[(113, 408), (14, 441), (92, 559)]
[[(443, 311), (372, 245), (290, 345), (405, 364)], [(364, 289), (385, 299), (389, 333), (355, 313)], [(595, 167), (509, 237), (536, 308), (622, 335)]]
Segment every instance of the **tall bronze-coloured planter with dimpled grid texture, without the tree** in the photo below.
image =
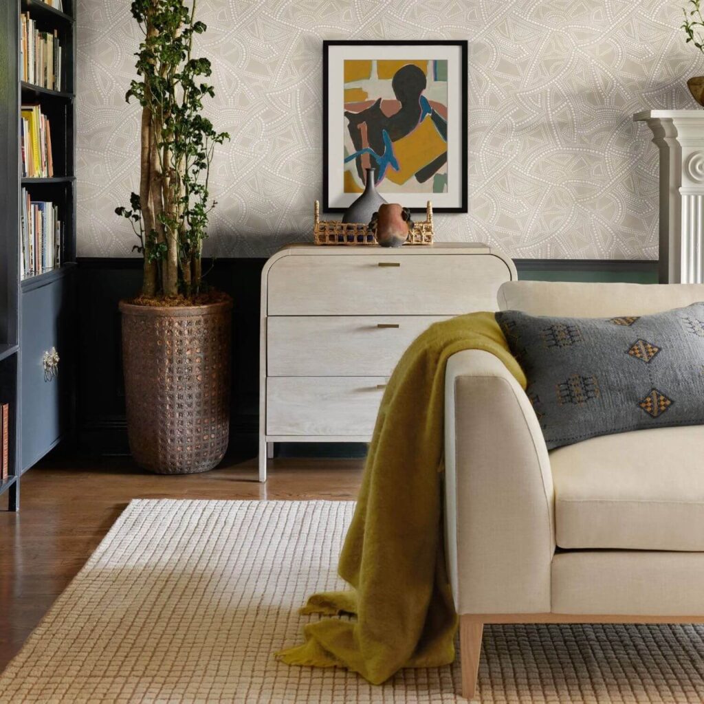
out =
[(158, 474), (213, 469), (230, 434), (232, 303), (120, 311), (134, 460)]

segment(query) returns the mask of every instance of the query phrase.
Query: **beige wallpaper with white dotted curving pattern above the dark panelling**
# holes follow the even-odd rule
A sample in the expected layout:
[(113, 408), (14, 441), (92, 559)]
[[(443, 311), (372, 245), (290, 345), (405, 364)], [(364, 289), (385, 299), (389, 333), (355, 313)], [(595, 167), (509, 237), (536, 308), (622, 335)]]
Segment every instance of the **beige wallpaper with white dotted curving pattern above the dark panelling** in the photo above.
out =
[[(469, 39), (470, 213), (436, 239), (517, 258), (657, 258), (658, 153), (645, 108), (691, 108), (704, 61), (684, 0), (199, 0), (218, 96), (206, 254), (268, 256), (310, 238), (322, 188), (322, 39)], [(129, 0), (78, 0), (78, 252), (127, 256), (113, 215), (138, 179), (127, 105)]]

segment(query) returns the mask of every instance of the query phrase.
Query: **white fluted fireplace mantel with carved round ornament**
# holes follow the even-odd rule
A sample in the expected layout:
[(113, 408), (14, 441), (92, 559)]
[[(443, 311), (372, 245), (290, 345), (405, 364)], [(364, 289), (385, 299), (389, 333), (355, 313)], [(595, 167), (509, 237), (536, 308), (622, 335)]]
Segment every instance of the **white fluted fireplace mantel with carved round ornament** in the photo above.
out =
[(704, 110), (648, 110), (660, 149), (660, 282), (704, 283)]

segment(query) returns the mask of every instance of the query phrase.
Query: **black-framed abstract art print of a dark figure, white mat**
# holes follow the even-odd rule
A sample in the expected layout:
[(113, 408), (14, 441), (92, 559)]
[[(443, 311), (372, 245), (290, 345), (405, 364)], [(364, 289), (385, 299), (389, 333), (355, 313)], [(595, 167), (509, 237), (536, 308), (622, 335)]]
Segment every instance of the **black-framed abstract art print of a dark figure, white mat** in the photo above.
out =
[(341, 213), (376, 168), (386, 201), (467, 212), (467, 42), (323, 42), (323, 203)]

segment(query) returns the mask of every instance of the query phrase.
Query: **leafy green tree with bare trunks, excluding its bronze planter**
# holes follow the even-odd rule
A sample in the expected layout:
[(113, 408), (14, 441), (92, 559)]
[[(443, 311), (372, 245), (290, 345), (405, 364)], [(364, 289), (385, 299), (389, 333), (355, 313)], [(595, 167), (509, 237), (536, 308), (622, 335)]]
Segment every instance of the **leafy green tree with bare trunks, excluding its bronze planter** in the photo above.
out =
[(139, 301), (201, 294), (201, 252), (207, 237), (208, 175), (216, 144), (229, 139), (201, 115), (203, 99), (215, 90), (203, 79), (210, 61), (192, 56), (194, 35), (206, 31), (196, 21), (191, 0), (134, 0), (132, 16), (144, 32), (137, 51), (137, 75), (125, 99), (142, 106), (139, 194), (130, 207), (115, 208), (127, 218), (144, 258)]

